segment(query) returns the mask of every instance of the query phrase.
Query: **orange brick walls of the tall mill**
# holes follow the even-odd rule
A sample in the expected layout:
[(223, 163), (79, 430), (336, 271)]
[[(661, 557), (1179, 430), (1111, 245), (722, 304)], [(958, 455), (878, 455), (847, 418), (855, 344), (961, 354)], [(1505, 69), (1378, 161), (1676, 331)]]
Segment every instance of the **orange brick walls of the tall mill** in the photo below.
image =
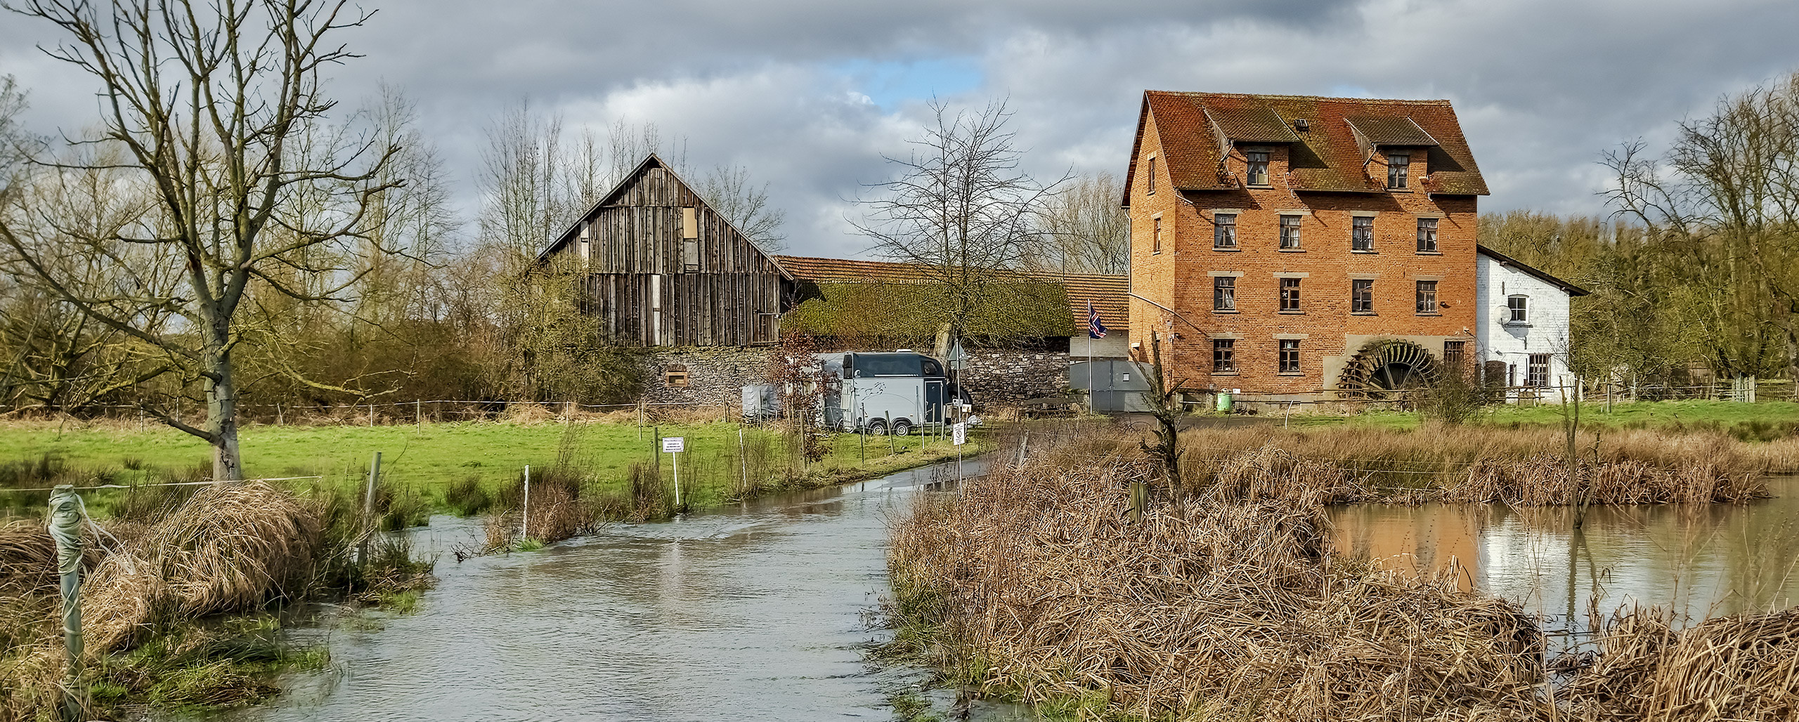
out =
[[(1146, 120), (1132, 181), (1132, 273), (1137, 295), (1168, 307), (1132, 300), (1132, 339), (1148, 359), (1150, 332), (1160, 336), (1169, 377), (1193, 386), (1241, 388), (1254, 393), (1308, 393), (1335, 386), (1342, 366), (1376, 338), (1405, 338), (1434, 354), (1445, 339), (1473, 341), (1475, 329), (1475, 198), (1410, 192), (1292, 192), (1286, 189), (1286, 147), (1268, 145), (1270, 187), (1182, 194), (1157, 163), (1157, 192), (1148, 194), (1148, 156), (1160, 153), (1155, 119)], [(1414, 189), (1428, 172), (1425, 153), (1412, 154)], [(1247, 178), (1243, 147), (1227, 171)], [(1385, 180), (1382, 158), (1367, 167)], [(1213, 248), (1213, 216), (1236, 214), (1236, 250)], [(1351, 217), (1374, 214), (1374, 250), (1351, 250)], [(1301, 250), (1279, 250), (1279, 217), (1301, 216)], [(1155, 217), (1162, 217), (1162, 251), (1155, 253)], [(1418, 253), (1418, 219), (1437, 217), (1437, 253)], [(1173, 232), (1173, 237), (1169, 237)], [(1301, 282), (1301, 313), (1279, 311), (1279, 277)], [(1213, 278), (1236, 284), (1236, 313), (1213, 309)], [(1351, 280), (1374, 282), (1374, 313), (1353, 314)], [(1416, 282), (1436, 280), (1437, 314), (1416, 313)], [(1213, 339), (1234, 339), (1236, 374), (1213, 372)], [(1279, 374), (1279, 339), (1297, 339), (1297, 374)], [(1472, 347), (1472, 343), (1470, 343)]]

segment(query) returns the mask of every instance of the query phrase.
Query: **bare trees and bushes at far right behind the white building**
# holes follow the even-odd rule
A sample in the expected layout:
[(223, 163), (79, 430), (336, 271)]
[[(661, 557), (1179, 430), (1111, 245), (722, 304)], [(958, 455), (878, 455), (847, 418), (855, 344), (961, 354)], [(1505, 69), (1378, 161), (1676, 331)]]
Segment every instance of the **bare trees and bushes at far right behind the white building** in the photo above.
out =
[(1799, 74), (1601, 154), (1607, 216), (1481, 217), (1481, 242), (1590, 291), (1571, 368), (1684, 386), (1799, 377)]

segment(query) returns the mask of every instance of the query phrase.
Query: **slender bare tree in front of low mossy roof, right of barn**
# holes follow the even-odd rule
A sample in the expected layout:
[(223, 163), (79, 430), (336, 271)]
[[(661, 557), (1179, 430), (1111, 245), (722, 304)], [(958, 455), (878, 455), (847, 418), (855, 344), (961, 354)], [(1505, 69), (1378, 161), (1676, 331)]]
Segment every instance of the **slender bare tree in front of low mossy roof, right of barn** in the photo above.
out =
[(941, 295), (932, 314), (948, 325), (950, 338), (962, 338), (980, 309), (995, 296), (1020, 289), (1016, 277), (1036, 242), (1034, 225), (1049, 196), (1070, 176), (1038, 183), (1024, 172), (1004, 101), (980, 111), (952, 111), (932, 102), (934, 124), (912, 140), (907, 158), (887, 158), (898, 178), (874, 185), (880, 196), (860, 199), (865, 216), (851, 219), (874, 251), (916, 264)]

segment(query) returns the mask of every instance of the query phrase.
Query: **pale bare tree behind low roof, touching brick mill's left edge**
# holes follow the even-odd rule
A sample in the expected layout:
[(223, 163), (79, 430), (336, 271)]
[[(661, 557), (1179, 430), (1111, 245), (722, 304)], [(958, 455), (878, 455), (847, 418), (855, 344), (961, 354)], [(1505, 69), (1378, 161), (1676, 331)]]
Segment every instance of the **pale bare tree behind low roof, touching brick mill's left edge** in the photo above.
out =
[(1061, 273), (1128, 273), (1130, 214), (1117, 176), (1081, 176), (1049, 198), (1031, 248), (1031, 268)]

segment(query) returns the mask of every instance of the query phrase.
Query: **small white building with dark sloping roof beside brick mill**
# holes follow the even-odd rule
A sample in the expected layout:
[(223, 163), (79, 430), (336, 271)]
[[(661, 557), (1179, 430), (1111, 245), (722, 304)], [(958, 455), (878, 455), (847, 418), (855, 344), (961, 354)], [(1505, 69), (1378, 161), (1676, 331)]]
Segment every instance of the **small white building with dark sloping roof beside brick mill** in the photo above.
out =
[[(1569, 374), (1569, 298), (1587, 291), (1486, 246), (1475, 246), (1475, 343), (1486, 379), (1511, 390), (1508, 401), (1558, 402)], [(1569, 388), (1569, 393), (1574, 393)]]

